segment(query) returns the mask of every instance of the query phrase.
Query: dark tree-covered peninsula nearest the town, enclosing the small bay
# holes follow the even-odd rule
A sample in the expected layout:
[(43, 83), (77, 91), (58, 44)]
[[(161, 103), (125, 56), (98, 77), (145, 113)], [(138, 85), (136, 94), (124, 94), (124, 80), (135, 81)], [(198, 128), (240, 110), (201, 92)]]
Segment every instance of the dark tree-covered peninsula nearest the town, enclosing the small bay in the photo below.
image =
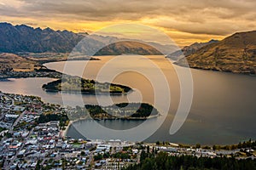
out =
[(160, 116), (153, 105), (147, 103), (120, 103), (109, 106), (85, 105), (85, 109), (95, 120), (145, 120)]

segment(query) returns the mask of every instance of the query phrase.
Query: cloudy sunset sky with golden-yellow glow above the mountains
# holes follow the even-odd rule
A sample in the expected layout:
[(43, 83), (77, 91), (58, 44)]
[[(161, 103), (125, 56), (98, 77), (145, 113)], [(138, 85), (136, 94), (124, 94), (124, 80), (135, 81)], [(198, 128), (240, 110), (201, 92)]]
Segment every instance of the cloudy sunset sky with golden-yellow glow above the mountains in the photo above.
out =
[(256, 30), (255, 8), (256, 0), (0, 0), (0, 22), (89, 33), (140, 24), (182, 47)]

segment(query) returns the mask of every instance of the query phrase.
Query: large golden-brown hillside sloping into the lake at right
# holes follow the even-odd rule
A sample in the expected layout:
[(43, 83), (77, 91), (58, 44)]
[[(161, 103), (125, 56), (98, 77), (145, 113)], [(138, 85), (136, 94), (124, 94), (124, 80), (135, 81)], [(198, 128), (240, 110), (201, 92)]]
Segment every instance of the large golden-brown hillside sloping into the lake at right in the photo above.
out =
[(222, 41), (208, 44), (176, 64), (191, 68), (236, 73), (256, 72), (256, 31), (237, 32)]

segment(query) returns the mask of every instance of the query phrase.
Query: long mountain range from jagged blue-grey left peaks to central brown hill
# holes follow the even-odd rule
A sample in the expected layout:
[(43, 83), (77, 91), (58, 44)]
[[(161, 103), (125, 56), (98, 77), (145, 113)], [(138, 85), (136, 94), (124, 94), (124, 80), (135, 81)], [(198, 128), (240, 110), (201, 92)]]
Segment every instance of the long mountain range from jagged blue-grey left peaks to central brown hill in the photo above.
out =
[[(81, 46), (77, 46), (83, 40)], [(87, 33), (72, 31), (54, 31), (50, 28), (32, 28), (31, 26), (12, 26), (9, 23), (0, 23), (0, 53), (71, 53), (76, 46), (85, 54), (96, 55), (113, 54), (160, 54), (154, 47), (167, 51), (171, 46), (153, 42), (134, 42), (117, 37), (88, 36)], [(114, 44), (117, 42), (117, 44)], [(109, 43), (113, 43), (108, 45)], [(152, 43), (152, 44), (151, 44)], [(151, 47), (153, 45), (154, 47)], [(108, 46), (108, 47), (105, 47)]]

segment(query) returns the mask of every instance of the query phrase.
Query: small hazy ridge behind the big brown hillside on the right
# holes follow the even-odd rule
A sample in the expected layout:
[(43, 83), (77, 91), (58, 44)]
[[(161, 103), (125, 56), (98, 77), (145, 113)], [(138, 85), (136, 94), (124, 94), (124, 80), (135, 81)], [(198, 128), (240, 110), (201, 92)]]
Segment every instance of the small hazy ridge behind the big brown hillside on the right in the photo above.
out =
[(168, 54), (166, 56), (166, 58), (169, 58), (169, 59), (172, 59), (172, 60), (182, 59), (183, 57), (186, 57), (190, 54), (194, 54), (198, 49), (200, 49), (200, 48), (202, 48), (202, 47), (204, 47), (208, 44), (215, 43), (215, 42), (218, 42), (218, 40), (213, 40), (212, 39), (209, 42), (195, 42), (195, 43), (192, 43), (189, 46), (185, 46), (184, 48), (173, 52), (172, 54)]

